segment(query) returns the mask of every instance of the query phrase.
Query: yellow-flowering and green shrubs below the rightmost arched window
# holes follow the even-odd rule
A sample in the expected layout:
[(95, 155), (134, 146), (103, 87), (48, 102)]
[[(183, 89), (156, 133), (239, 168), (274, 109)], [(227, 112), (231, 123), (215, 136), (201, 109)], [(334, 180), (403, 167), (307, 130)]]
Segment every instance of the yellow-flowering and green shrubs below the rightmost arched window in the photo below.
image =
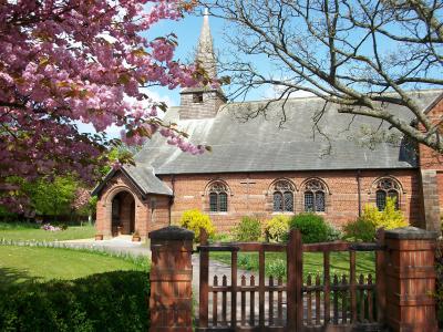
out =
[(395, 209), (395, 198), (388, 197), (384, 210), (377, 206), (364, 206), (363, 215), (344, 226), (344, 238), (349, 240), (373, 241), (377, 229), (392, 229), (408, 226), (401, 210)]

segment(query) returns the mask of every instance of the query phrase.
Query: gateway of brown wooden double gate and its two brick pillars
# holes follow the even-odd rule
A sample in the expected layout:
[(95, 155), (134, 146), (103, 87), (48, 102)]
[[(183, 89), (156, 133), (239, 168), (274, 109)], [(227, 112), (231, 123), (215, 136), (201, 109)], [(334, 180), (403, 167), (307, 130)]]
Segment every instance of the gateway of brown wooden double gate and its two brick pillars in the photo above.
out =
[[(404, 227), (379, 234), (377, 243), (303, 245), (291, 231), (287, 245), (209, 245), (203, 232), (196, 331), (426, 331), (437, 332), (435, 246), (437, 234)], [(152, 332), (193, 331), (194, 234), (169, 226), (150, 234)], [(230, 252), (229, 273), (209, 271), (212, 251)], [(336, 273), (334, 252), (349, 255)], [(375, 273), (358, 270), (358, 251), (372, 251)], [(258, 253), (258, 273), (238, 270), (241, 252)], [(287, 257), (287, 276), (265, 276), (267, 252)], [(303, 273), (303, 253), (322, 257), (322, 271)], [(389, 286), (389, 287), (388, 287)]]

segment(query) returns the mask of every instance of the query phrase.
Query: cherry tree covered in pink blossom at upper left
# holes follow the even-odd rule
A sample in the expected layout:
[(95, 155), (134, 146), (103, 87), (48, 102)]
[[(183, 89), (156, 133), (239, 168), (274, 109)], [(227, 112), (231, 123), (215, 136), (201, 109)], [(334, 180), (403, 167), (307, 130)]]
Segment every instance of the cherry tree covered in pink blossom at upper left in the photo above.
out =
[[(198, 64), (174, 60), (175, 35), (142, 35), (161, 20), (179, 20), (192, 3), (150, 0), (7, 0), (0, 4), (0, 185), (12, 176), (78, 174), (90, 183), (110, 144), (105, 131), (124, 128), (126, 143), (155, 132), (192, 154), (165, 108), (143, 93), (216, 84)], [(78, 123), (97, 134), (80, 133)], [(13, 195), (2, 204), (17, 205)]]

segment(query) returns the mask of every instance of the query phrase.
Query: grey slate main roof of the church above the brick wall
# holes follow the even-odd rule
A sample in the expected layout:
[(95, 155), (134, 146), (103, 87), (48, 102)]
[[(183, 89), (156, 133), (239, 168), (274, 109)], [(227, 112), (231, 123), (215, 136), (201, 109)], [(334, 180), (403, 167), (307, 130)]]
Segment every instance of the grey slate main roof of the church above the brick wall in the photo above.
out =
[[(426, 108), (441, 90), (414, 92), (418, 103)], [(166, 121), (176, 122), (196, 144), (210, 145), (212, 153), (193, 156), (166, 144), (161, 135), (154, 135), (136, 155), (134, 177), (143, 178), (147, 165), (156, 175), (214, 174), (238, 172), (328, 170), (415, 168), (416, 158), (405, 144), (378, 143), (374, 148), (361, 144), (362, 128), (388, 129), (379, 120), (338, 114), (338, 105), (318, 97), (288, 100), (285, 104), (287, 120), (279, 127), (282, 103), (271, 104), (267, 115), (245, 121), (264, 102), (233, 103), (222, 108), (215, 118), (178, 120), (178, 107), (167, 112)], [(315, 131), (315, 117), (324, 113)], [(392, 106), (389, 106), (392, 108)], [(405, 108), (391, 110), (410, 122)], [(398, 133), (390, 129), (390, 133)], [(398, 133), (399, 134), (399, 133)]]

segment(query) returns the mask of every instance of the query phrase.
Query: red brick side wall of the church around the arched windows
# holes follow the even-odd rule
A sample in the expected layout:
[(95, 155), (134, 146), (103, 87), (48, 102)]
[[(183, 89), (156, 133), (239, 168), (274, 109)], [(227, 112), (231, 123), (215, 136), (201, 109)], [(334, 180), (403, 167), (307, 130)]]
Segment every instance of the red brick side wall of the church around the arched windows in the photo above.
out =
[[(183, 211), (192, 208), (209, 214), (220, 231), (228, 231), (245, 215), (271, 218), (271, 185), (278, 178), (287, 178), (295, 184), (295, 211), (301, 212), (303, 184), (309, 178), (320, 178), (327, 186), (327, 207), (323, 215), (330, 222), (341, 226), (356, 219), (359, 214), (357, 176), (354, 170), (178, 175), (174, 177), (175, 199), (172, 207), (172, 222), (178, 224)], [(394, 177), (400, 183), (400, 208), (411, 224), (418, 224), (421, 219), (421, 200), (420, 177), (416, 169), (361, 172), (362, 207), (375, 201), (374, 181), (384, 176)], [(163, 179), (173, 187), (171, 176), (164, 176)], [(209, 212), (207, 186), (216, 179), (224, 180), (229, 187), (227, 212)]]

